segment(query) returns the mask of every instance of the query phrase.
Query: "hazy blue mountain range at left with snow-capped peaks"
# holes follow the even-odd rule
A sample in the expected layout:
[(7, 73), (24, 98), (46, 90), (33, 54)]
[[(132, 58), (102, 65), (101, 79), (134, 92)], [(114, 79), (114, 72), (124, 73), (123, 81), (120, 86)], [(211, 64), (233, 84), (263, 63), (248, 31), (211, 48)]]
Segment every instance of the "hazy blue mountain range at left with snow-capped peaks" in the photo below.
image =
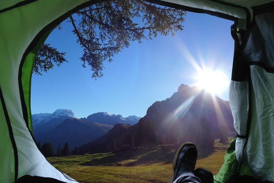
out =
[(98, 112), (87, 118), (77, 119), (69, 109), (58, 109), (52, 114), (32, 115), (34, 138), (41, 145), (50, 142), (55, 152), (59, 144), (62, 148), (67, 142), (72, 150), (75, 146), (79, 147), (105, 135), (116, 123), (134, 125), (140, 118), (123, 118), (109, 112)]

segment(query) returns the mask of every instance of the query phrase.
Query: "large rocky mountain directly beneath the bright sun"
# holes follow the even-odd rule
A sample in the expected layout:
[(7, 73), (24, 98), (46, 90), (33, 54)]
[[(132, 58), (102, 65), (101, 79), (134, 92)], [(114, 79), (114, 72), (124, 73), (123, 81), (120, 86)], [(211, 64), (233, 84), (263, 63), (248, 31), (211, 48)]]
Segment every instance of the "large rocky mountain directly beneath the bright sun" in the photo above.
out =
[(220, 133), (219, 127), (225, 125), (228, 131), (234, 131), (233, 116), (228, 101), (213, 96), (198, 87), (181, 84), (170, 98), (152, 104), (144, 121), (155, 122), (157, 132), (167, 136), (172, 124), (186, 121), (190, 116), (202, 115), (214, 134)]

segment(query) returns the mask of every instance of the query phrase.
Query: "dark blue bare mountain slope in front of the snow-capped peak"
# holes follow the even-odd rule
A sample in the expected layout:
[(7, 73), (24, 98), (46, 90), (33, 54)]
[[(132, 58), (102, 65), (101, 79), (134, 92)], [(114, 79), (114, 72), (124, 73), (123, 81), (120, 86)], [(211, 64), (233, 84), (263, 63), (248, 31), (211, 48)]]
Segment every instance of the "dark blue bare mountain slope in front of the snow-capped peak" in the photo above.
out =
[(50, 142), (55, 151), (59, 144), (63, 148), (67, 142), (72, 150), (75, 146), (80, 147), (105, 135), (111, 128), (113, 128), (112, 125), (67, 118), (47, 133), (36, 135), (35, 139), (41, 144)]

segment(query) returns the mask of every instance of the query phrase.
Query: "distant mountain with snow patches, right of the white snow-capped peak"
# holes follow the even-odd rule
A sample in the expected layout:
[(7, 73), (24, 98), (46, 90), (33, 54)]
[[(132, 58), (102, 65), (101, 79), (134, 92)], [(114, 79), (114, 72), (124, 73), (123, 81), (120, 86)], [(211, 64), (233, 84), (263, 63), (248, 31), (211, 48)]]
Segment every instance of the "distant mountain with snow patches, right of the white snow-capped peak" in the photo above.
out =
[(81, 119), (87, 120), (87, 121), (96, 121), (98, 123), (107, 124), (107, 125), (115, 125), (117, 123), (134, 125), (141, 119), (141, 117), (137, 117), (134, 115), (128, 116), (128, 117), (122, 117), (122, 115), (115, 115), (109, 112), (98, 112), (98, 113), (89, 115), (86, 119), (85, 118), (81, 118)]

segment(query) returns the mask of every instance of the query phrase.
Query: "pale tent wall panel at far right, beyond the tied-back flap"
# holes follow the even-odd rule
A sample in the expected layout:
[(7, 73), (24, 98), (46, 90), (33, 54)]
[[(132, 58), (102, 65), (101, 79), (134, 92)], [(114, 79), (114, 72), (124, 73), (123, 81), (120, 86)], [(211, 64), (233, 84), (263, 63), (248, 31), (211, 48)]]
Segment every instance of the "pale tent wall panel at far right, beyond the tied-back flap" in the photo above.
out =
[(250, 65), (250, 132), (246, 149), (236, 153), (243, 153), (253, 177), (274, 181), (274, 4), (255, 7), (254, 15), (242, 46)]

